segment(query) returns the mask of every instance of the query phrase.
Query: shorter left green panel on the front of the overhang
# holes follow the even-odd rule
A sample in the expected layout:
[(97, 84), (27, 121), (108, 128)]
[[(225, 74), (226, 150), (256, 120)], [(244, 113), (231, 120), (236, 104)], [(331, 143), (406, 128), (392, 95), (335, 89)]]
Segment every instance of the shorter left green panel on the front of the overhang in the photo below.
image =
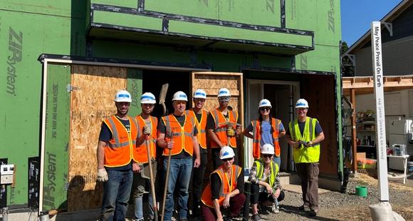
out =
[(93, 23), (162, 31), (162, 19), (132, 14), (113, 13), (110, 11), (94, 11)]

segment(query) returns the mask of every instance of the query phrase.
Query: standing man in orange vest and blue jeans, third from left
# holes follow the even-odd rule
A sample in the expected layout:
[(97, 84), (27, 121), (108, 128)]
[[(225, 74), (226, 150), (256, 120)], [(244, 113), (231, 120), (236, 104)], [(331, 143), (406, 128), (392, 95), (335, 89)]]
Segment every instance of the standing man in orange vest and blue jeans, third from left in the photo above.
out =
[[(174, 113), (162, 117), (158, 125), (157, 143), (164, 148), (164, 170), (167, 170), (169, 151), (171, 154), (164, 220), (172, 219), (174, 190), (178, 189), (179, 220), (187, 220), (188, 188), (192, 168), (199, 167), (199, 144), (197, 126), (192, 115), (185, 114), (187, 95), (178, 91), (172, 98)], [(195, 160), (192, 161), (192, 156)]]

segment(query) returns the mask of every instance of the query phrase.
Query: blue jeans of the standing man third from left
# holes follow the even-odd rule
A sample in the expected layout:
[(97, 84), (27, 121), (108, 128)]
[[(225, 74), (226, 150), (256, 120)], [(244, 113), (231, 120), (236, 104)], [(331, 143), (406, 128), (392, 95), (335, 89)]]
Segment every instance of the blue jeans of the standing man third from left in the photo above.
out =
[[(164, 170), (167, 170), (168, 158), (164, 158)], [(166, 172), (165, 172), (166, 173)], [(165, 202), (164, 220), (172, 219), (174, 210), (174, 190), (175, 185), (178, 187), (178, 211), (179, 219), (187, 219), (188, 214), (188, 187), (192, 173), (192, 157), (189, 158), (171, 158), (169, 168), (169, 180), (167, 186), (167, 197)]]

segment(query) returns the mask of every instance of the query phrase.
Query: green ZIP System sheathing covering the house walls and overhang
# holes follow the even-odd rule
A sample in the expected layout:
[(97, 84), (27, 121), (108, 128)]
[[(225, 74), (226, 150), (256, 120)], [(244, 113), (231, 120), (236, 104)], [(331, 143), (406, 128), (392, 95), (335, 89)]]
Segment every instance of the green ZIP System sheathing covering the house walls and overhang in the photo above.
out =
[[(121, 13), (125, 11), (117, 9), (129, 11)], [(89, 11), (94, 17), (90, 17)], [(165, 16), (167, 19), (161, 19)], [(145, 21), (139, 20), (142, 17)], [(93, 19), (110, 18), (112, 20), (105, 20), (110, 27), (90, 26)], [(122, 26), (125, 24), (133, 29), (126, 29), (128, 27)], [(145, 32), (140, 26), (157, 32)], [(0, 125), (4, 125), (0, 127), (0, 134), (4, 136), (0, 158), (16, 165), (16, 185), (7, 186), (7, 206), (28, 205), (28, 158), (39, 156), (42, 66), (37, 58), (41, 53), (130, 59), (155, 66), (207, 66), (211, 71), (273, 68), (271, 70), (282, 69), (286, 73), (295, 69), (340, 73), (339, 41), (339, 0), (229, 0), (225, 4), (219, 0), (41, 0), (36, 3), (3, 0), (0, 4), (0, 48), (3, 48), (0, 70), (3, 71), (0, 73), (4, 90), (0, 101), (6, 108), (0, 110)], [(53, 68), (52, 72), (65, 73), (55, 79), (59, 82), (58, 91), (63, 91), (68, 68), (57, 65)], [(142, 72), (131, 69), (128, 76), (129, 71), (136, 79), (142, 79)], [(339, 76), (335, 80), (335, 94), (340, 98)], [(133, 82), (128, 81), (127, 87), (137, 86), (133, 93), (142, 93), (142, 80)], [(49, 83), (48, 93), (53, 95), (53, 84)], [(64, 101), (61, 97), (59, 94), (58, 102)], [(341, 103), (340, 99), (336, 100), (337, 108)], [(53, 99), (51, 102), (48, 112), (53, 111)], [(139, 106), (132, 112), (139, 113)], [(336, 113), (337, 130), (341, 134), (340, 108)], [(50, 122), (53, 125), (53, 114), (48, 118), (52, 120), (48, 125)], [(53, 169), (55, 160), (56, 165), (66, 162), (65, 137), (61, 139), (53, 141), (63, 145), (56, 147), (61, 150), (56, 159), (53, 148), (49, 151), (50, 157), (45, 152), (45, 162), (50, 161), (45, 165), (46, 172), (49, 165)], [(48, 142), (52, 142), (50, 137)], [(338, 143), (341, 148), (340, 138)], [(340, 165), (341, 153), (338, 153)], [(67, 165), (55, 170), (53, 206), (64, 207), (66, 195), (61, 194), (66, 192)], [(44, 187), (53, 185), (47, 173), (44, 178)]]

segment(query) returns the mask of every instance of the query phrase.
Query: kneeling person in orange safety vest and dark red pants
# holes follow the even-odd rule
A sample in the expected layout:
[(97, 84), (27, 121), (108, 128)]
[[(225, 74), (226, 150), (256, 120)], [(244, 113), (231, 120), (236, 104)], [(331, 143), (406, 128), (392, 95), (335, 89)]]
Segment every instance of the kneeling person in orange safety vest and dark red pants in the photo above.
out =
[(239, 217), (245, 202), (244, 173), (234, 163), (234, 150), (224, 146), (219, 152), (222, 165), (209, 176), (209, 183), (202, 192), (202, 213), (206, 221), (224, 220), (223, 209), (229, 209), (226, 220)]

